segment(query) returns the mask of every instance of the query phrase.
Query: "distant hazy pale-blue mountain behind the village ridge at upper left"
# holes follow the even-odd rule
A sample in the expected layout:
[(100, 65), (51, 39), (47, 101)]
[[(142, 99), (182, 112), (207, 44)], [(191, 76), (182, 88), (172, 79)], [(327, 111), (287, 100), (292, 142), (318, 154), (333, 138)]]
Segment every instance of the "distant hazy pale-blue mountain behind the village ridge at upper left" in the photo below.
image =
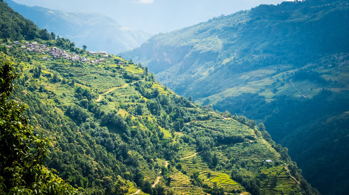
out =
[(86, 45), (91, 51), (116, 54), (140, 46), (151, 36), (142, 30), (124, 28), (101, 13), (72, 13), (25, 6), (11, 0), (6, 2), (40, 29), (47, 29), (60, 37), (74, 40), (77, 47)]

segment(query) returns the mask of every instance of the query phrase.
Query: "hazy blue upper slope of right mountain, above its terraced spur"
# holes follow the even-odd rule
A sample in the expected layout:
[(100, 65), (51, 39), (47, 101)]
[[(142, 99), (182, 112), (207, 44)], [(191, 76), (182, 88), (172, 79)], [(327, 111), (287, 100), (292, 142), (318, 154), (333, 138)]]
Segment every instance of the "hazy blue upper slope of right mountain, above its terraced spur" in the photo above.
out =
[[(323, 54), (343, 52), (348, 48), (347, 11), (339, 1), (261, 5), (158, 34), (121, 55), (147, 65), (178, 93), (205, 98), (244, 83), (239, 73), (269, 65), (289, 65), (286, 69), (292, 70)], [(205, 88), (197, 91), (196, 86)]]

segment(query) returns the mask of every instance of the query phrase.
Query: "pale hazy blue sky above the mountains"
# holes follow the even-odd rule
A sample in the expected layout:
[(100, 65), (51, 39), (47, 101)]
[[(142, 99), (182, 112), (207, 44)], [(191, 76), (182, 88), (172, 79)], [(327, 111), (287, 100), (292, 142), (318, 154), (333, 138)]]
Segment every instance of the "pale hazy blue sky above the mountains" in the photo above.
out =
[[(98, 12), (114, 18), (121, 26), (150, 33), (169, 32), (205, 22), (222, 14), (251, 9), (282, 0), (14, 0), (72, 12)], [(101, 21), (103, 22), (103, 21)]]

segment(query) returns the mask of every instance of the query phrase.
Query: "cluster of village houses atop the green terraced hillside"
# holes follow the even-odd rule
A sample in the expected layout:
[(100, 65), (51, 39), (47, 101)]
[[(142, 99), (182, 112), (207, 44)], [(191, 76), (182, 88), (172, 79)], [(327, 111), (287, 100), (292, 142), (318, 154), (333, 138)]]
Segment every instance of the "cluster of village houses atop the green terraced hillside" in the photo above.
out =
[[(14, 45), (19, 45), (19, 41), (14, 41)], [(52, 48), (47, 48), (47, 44), (40, 45), (37, 42), (32, 42), (29, 44), (29, 42), (24, 42), (24, 46), (21, 48), (27, 48), (27, 52), (36, 52), (36, 53), (49, 53), (53, 58), (61, 58), (63, 57), (64, 59), (67, 60), (72, 60), (72, 61), (82, 61), (82, 62), (89, 62), (90, 59), (81, 57), (75, 53), (68, 54), (66, 50), (60, 49), (57, 47), (52, 47)], [(97, 55), (97, 54), (104, 54), (104, 58), (108, 58), (109, 56), (106, 54), (106, 52), (89, 52), (89, 54), (92, 55)], [(46, 56), (41, 57), (43, 60), (49, 60)], [(99, 62), (104, 62), (104, 59), (97, 59), (94, 61), (91, 61), (92, 64), (94, 63), (99, 63)]]

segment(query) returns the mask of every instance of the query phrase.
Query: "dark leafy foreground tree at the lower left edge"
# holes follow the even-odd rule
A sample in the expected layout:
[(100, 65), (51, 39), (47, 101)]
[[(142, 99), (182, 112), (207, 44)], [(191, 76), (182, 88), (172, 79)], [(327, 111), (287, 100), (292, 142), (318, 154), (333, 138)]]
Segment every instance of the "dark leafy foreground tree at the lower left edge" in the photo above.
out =
[(0, 67), (0, 195), (84, 194), (44, 167), (51, 139), (34, 134), (23, 115), (26, 104), (9, 99), (18, 75), (10, 62)]

